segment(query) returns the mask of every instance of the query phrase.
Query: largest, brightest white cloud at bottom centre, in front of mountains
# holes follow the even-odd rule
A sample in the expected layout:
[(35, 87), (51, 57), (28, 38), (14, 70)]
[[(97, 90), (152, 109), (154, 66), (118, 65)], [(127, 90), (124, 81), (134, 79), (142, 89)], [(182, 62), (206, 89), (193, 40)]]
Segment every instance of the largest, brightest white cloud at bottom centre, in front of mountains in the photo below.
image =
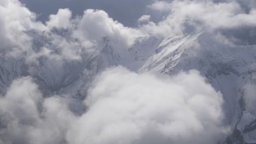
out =
[(225, 134), (222, 95), (195, 70), (168, 77), (108, 69), (85, 104), (69, 143), (217, 143)]

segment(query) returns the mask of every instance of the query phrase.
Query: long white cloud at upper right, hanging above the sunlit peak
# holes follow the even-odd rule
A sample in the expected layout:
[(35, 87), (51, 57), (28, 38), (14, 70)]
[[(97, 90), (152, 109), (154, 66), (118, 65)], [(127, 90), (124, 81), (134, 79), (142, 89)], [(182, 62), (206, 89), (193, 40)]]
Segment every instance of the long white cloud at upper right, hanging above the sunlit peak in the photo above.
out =
[(239, 28), (255, 26), (256, 9), (243, 9), (236, 1), (156, 1), (149, 8), (157, 11), (170, 11), (163, 20), (141, 26), (142, 31), (152, 34), (177, 35), (188, 33), (188, 29)]

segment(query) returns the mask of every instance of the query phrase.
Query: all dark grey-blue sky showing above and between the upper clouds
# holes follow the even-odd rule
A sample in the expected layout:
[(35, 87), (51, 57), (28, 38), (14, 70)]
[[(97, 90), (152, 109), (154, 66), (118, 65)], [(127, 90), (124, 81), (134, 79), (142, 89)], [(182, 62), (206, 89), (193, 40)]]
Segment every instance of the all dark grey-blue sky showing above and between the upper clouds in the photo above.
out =
[[(37, 20), (45, 22), (49, 20), (50, 14), (55, 14), (59, 9), (69, 8), (72, 11), (73, 16), (83, 15), (86, 9), (100, 9), (106, 11), (109, 17), (122, 23), (127, 27), (136, 27), (137, 20), (142, 15), (150, 15), (150, 20), (153, 22), (159, 22), (162, 20), (162, 16), (166, 16), (166, 11), (156, 12), (152, 10), (149, 5), (156, 0), (20, 0), (24, 3), (28, 9), (38, 14)], [(162, 2), (172, 2), (172, 0), (161, 0)], [(156, 1), (156, 2), (161, 2)], [(214, 3), (232, 2), (232, 0), (214, 0)], [(240, 4), (240, 7), (249, 13), (252, 8), (255, 8), (256, 2), (253, 0), (242, 1), (236, 0)], [(229, 38), (237, 39), (237, 44), (256, 44), (254, 40), (256, 38), (256, 27), (236, 27), (221, 29), (220, 32)]]

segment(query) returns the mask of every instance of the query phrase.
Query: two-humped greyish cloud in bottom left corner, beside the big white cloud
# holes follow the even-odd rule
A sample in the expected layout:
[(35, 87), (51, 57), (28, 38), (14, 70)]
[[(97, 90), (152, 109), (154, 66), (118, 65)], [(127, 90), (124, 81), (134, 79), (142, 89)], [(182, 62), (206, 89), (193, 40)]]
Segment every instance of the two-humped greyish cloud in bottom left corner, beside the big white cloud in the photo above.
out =
[(0, 99), (2, 143), (64, 143), (75, 116), (65, 100), (43, 98), (30, 77), (15, 80)]

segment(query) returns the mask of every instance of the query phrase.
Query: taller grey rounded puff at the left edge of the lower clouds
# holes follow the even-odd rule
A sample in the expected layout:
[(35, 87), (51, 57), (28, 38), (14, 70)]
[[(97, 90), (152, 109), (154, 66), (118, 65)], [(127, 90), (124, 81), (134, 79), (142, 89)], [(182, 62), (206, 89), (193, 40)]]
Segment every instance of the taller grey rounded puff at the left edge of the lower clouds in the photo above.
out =
[(38, 104), (42, 95), (30, 78), (13, 82), (0, 99), (1, 140), (4, 143), (28, 143), (30, 130), (39, 121)]

